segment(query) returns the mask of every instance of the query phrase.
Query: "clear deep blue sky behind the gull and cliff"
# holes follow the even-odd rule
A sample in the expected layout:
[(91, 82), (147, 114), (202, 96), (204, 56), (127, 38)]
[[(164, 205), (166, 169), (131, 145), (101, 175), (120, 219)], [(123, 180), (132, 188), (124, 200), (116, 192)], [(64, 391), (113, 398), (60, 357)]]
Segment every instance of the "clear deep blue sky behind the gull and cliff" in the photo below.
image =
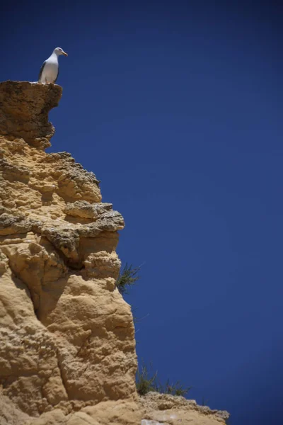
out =
[[(279, 2), (278, 2), (279, 3)], [(127, 300), (139, 359), (232, 425), (282, 419), (282, 8), (274, 1), (15, 2), (0, 79), (54, 47), (68, 151), (125, 217), (144, 263)], [(2, 6), (3, 7), (3, 6)], [(268, 419), (267, 419), (268, 418)]]

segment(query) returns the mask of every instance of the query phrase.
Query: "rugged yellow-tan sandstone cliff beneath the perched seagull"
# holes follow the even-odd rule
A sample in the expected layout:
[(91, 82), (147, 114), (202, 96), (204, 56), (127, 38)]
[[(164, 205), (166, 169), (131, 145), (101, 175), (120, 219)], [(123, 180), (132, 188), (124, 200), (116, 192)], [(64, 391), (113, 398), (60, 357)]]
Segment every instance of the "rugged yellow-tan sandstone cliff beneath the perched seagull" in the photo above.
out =
[(0, 424), (224, 424), (183, 397), (137, 397), (132, 313), (115, 288), (124, 220), (93, 173), (45, 153), (61, 96), (0, 84)]

